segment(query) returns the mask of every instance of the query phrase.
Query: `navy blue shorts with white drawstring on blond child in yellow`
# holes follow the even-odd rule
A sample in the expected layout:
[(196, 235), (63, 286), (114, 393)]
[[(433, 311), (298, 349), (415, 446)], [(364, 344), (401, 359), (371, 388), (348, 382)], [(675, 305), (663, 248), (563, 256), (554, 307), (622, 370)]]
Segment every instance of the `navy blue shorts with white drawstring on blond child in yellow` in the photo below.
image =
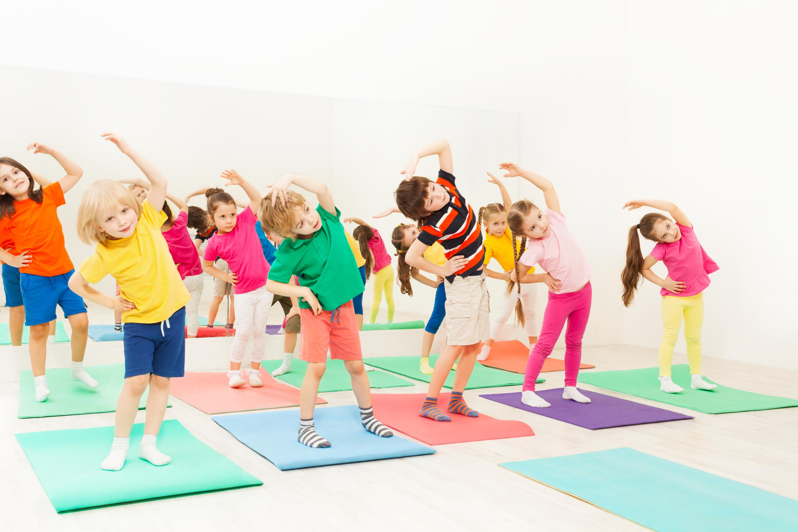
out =
[(122, 328), (124, 378), (150, 373), (183, 376), (186, 367), (185, 324), (186, 307), (158, 323), (125, 323)]

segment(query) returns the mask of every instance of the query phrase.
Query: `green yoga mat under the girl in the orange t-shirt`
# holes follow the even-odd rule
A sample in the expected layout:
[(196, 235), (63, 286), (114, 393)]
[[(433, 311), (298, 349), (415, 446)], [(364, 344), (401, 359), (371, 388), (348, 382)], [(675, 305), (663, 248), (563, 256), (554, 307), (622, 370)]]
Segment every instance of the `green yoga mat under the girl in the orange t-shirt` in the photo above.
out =
[[(124, 364), (85, 366), (89, 375), (97, 382), (97, 388), (89, 388), (78, 380), (72, 380), (69, 368), (53, 368), (45, 372), (50, 395), (37, 403), (34, 393), (34, 374), (29, 370), (19, 372), (19, 410), (17, 417), (74, 416), (76, 414), (99, 414), (115, 412), (117, 399), (124, 384)], [(141, 396), (139, 408), (147, 403), (147, 392)], [(172, 405), (169, 405), (172, 406)]]

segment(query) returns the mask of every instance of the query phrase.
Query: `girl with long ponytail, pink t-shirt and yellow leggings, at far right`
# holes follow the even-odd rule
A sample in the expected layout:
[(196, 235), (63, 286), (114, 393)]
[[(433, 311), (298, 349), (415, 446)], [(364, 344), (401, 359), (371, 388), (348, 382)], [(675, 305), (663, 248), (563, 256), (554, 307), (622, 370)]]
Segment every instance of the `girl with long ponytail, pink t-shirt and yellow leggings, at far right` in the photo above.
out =
[[(659, 345), (659, 389), (667, 393), (678, 393), (684, 389), (670, 376), (674, 346), (679, 336), (681, 320), (684, 319), (690, 388), (713, 390), (717, 385), (701, 378), (701, 324), (704, 321), (703, 292), (709, 286), (709, 274), (717, 271), (718, 266), (698, 242), (693, 224), (674, 203), (659, 199), (639, 199), (626, 203), (623, 208), (626, 207), (630, 211), (638, 207), (654, 207), (668, 211), (673, 216), (670, 219), (658, 212), (652, 212), (643, 216), (640, 223), (630, 227), (626, 267), (621, 275), (625, 306), (631, 305), (634, 300), (634, 290), (637, 290), (641, 276), (662, 288), (660, 295), (663, 333)], [(640, 250), (638, 231), (644, 238), (657, 242), (646, 258), (643, 258)], [(668, 276), (664, 279), (651, 270), (658, 261), (665, 263), (668, 269)]]

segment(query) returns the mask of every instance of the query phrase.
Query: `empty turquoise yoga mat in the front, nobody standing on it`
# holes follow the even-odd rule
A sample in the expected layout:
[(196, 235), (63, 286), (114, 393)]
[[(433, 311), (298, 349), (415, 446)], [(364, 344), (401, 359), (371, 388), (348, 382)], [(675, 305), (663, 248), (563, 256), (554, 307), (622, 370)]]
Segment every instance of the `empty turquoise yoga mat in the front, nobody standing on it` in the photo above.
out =
[(658, 532), (798, 530), (798, 501), (630, 447), (499, 465)]

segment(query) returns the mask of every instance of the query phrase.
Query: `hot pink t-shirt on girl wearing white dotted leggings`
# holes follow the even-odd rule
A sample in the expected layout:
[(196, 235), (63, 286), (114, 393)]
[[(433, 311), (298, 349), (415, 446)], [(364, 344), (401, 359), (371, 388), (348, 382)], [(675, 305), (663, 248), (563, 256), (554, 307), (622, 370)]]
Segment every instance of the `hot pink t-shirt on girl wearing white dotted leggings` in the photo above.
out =
[(202, 258), (213, 261), (221, 257), (238, 278), (235, 294), (247, 294), (266, 285), (269, 263), (263, 256), (263, 247), (255, 231), (258, 219), (247, 208), (239, 213), (233, 231), (214, 234), (205, 246)]

